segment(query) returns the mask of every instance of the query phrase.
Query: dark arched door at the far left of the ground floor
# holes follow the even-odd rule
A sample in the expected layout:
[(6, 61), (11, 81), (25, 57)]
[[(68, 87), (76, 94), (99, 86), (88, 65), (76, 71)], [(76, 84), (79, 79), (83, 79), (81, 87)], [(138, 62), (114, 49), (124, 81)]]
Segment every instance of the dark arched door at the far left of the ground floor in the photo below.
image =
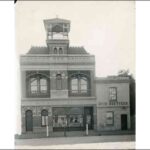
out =
[(32, 111), (26, 111), (26, 131), (33, 131), (33, 117)]

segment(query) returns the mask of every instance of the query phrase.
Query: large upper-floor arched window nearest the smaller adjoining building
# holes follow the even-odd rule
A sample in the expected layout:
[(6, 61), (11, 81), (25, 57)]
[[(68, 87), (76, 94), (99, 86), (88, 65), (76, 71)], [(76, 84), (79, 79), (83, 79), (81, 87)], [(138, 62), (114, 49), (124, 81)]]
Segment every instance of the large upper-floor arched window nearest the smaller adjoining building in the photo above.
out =
[(71, 77), (70, 87), (72, 94), (87, 94), (88, 93), (89, 81), (84, 75), (73, 75)]

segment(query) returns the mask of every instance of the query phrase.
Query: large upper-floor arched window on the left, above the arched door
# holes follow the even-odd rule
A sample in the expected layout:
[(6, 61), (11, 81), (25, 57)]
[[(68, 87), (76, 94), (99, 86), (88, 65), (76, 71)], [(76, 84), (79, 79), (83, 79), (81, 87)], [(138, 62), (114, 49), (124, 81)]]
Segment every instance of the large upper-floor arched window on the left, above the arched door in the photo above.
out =
[(28, 95), (30, 96), (40, 96), (48, 95), (48, 82), (49, 79), (43, 75), (36, 74), (30, 76), (28, 79)]

